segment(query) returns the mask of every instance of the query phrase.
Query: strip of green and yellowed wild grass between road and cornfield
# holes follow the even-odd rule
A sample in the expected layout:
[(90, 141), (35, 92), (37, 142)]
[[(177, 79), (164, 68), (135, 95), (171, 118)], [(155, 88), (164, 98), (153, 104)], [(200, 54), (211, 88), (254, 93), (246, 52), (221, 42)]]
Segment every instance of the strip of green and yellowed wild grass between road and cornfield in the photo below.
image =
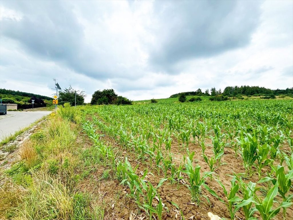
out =
[(0, 219), (104, 218), (103, 201), (78, 187), (84, 169), (79, 117), (70, 107), (58, 109), (22, 145), (21, 160), (3, 174)]

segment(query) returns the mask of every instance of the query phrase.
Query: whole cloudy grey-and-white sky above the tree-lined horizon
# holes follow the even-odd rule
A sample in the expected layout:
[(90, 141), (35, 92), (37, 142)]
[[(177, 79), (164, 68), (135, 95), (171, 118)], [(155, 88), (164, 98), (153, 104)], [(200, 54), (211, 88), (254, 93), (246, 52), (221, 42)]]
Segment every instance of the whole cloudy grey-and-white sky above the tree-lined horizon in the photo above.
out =
[(131, 100), (293, 87), (293, 1), (0, 1), (0, 87)]

